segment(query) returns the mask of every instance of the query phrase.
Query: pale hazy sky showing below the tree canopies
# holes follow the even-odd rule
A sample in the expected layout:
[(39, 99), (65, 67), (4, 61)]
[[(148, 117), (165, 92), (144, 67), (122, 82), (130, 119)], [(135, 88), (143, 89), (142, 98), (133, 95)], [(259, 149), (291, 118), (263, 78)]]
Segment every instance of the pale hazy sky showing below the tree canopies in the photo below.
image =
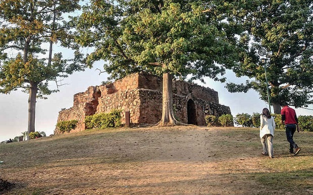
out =
[[(108, 75), (100, 74), (96, 68), (101, 69), (102, 64), (98, 63), (93, 69), (87, 69), (85, 72), (77, 72), (65, 78), (63, 85), (59, 87), (60, 92), (47, 96), (48, 99), (37, 99), (36, 104), (36, 131), (43, 131), (47, 136), (54, 133), (59, 111), (62, 108), (73, 106), (74, 94), (84, 92), (89, 86), (100, 85), (106, 81)], [(246, 79), (235, 78), (234, 74), (227, 74), (228, 81), (244, 82)], [(262, 112), (267, 103), (259, 100), (258, 94), (250, 90), (248, 93), (229, 93), (225, 84), (214, 82), (211, 79), (205, 79), (206, 84), (198, 83), (204, 87), (214, 89), (219, 93), (220, 104), (229, 106), (232, 115), (238, 113)], [(51, 83), (51, 88), (56, 88)], [(0, 142), (21, 136), (22, 132), (27, 131), (28, 120), (28, 94), (21, 91), (14, 91), (11, 94), (0, 94)], [(310, 106), (312, 108), (312, 106)], [(273, 110), (273, 108), (272, 108)], [(296, 109), (297, 115), (312, 115), (312, 110)]]

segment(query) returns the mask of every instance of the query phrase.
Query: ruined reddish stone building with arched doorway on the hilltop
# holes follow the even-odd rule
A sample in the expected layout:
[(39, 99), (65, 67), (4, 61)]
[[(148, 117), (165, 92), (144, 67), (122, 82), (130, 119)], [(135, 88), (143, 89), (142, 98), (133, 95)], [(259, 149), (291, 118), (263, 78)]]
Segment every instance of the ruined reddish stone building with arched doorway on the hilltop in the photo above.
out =
[[(74, 95), (73, 107), (59, 112), (58, 122), (78, 120), (71, 132), (85, 129), (85, 116), (112, 109), (130, 113), (130, 124), (155, 124), (162, 118), (162, 77), (135, 73), (108, 85), (91, 86)], [(219, 104), (218, 92), (183, 81), (173, 80), (173, 106), (176, 119), (195, 125), (205, 125), (205, 115), (231, 114), (230, 108)], [(57, 129), (55, 134), (58, 134)]]

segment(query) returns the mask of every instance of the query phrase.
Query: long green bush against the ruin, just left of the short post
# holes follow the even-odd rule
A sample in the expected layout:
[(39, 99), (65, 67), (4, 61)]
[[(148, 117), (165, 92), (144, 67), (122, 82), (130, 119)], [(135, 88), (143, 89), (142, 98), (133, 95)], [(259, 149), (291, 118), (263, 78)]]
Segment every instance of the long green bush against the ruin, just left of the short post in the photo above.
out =
[(108, 128), (121, 125), (121, 110), (114, 109), (110, 113), (98, 113), (85, 117), (87, 128)]

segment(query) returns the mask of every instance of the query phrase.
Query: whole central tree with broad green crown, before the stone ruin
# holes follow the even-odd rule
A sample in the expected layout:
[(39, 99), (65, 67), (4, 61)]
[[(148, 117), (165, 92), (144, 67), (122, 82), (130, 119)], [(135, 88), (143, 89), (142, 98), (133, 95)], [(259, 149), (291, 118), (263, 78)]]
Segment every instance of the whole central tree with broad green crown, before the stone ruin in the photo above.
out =
[(109, 79), (135, 72), (163, 75), (160, 125), (175, 125), (172, 78), (221, 78), (236, 60), (236, 28), (220, 1), (90, 1), (77, 19), (78, 43), (93, 47), (88, 66), (106, 60)]

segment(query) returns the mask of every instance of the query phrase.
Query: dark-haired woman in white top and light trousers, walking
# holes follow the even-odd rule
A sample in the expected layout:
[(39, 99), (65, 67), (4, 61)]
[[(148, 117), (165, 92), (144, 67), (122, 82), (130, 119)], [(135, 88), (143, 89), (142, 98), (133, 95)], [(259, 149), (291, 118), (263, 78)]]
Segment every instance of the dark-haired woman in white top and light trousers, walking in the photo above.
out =
[(260, 138), (263, 147), (263, 155), (269, 155), (270, 158), (273, 156), (273, 137), (275, 131), (275, 121), (269, 109), (263, 108), (262, 114), (260, 115)]

